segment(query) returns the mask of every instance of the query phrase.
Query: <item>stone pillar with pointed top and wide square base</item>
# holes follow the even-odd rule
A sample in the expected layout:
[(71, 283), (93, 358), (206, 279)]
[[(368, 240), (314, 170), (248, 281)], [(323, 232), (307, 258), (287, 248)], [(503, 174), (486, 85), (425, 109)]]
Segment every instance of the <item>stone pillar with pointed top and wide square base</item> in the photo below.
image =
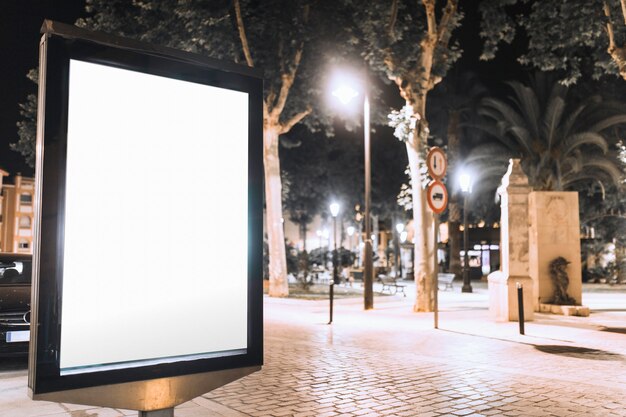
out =
[(501, 201), (500, 270), (488, 277), (489, 313), (497, 321), (517, 321), (517, 283), (524, 288), (524, 320), (533, 319), (533, 281), (528, 274), (528, 177), (511, 159), (498, 189)]

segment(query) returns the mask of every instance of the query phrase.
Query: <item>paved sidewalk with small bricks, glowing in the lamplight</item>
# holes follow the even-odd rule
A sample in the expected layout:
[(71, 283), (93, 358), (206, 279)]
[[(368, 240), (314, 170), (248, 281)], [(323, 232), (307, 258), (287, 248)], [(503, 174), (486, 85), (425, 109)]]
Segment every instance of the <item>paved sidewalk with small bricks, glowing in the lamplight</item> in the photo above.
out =
[[(481, 288), (441, 292), (439, 330), (410, 311), (410, 295), (376, 297), (367, 312), (339, 300), (330, 326), (327, 301), (266, 298), (263, 370), (175, 415), (626, 416), (626, 294), (616, 294), (589, 318), (537, 315), (525, 336), (488, 319)], [(30, 401), (25, 375), (0, 373), (0, 417), (137, 415)]]

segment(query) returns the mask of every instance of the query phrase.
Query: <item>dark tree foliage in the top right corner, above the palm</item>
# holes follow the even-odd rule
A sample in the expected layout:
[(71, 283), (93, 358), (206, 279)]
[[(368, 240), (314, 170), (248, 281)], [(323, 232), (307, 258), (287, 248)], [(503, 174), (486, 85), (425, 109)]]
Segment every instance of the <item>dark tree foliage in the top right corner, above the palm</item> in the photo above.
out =
[(626, 80), (626, 0), (485, 0), (480, 12), (483, 59), (493, 58), (501, 43), (523, 32), (528, 50), (520, 62), (558, 70), (564, 84), (583, 73)]

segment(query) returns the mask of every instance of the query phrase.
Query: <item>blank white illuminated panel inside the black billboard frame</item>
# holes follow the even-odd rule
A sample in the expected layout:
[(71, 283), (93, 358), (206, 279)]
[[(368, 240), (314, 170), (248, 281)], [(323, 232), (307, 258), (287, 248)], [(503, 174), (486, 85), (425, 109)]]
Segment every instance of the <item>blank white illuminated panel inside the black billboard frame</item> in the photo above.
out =
[(245, 352), (248, 94), (69, 73), (61, 373)]

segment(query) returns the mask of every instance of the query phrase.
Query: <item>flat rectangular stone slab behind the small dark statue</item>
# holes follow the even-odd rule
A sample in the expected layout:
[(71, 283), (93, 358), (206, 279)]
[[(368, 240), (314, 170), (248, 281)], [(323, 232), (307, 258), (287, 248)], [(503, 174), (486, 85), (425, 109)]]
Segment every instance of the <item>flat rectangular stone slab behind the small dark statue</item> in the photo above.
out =
[(567, 266), (567, 293), (582, 305), (580, 265), (580, 224), (578, 193), (534, 191), (528, 196), (530, 221), (530, 276), (533, 280), (535, 311), (540, 304), (550, 304), (554, 288), (548, 265), (562, 256)]

